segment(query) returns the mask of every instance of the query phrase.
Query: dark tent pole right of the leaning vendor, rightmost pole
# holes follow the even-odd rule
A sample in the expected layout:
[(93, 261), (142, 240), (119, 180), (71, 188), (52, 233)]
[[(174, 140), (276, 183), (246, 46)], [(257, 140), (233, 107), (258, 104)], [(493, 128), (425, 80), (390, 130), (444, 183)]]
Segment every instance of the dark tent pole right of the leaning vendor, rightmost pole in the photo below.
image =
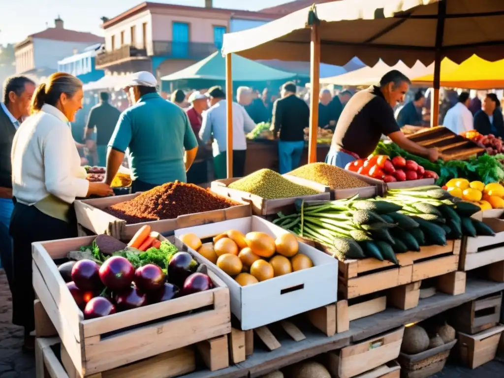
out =
[(441, 59), (443, 59), (443, 37), (445, 35), (446, 0), (437, 3), (437, 25), (434, 56), (434, 93), (430, 104), (430, 126), (435, 128), (439, 122), (439, 82), (441, 80)]

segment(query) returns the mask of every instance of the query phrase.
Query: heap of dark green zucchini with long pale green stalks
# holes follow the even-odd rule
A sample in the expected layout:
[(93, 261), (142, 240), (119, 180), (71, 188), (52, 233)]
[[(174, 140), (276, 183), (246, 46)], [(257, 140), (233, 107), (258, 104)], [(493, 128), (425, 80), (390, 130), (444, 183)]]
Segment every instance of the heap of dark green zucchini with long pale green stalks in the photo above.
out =
[(398, 264), (396, 254), (447, 245), (463, 235), (494, 235), (471, 216), (479, 206), (438, 186), (390, 190), (386, 197), (297, 201), (297, 212), (273, 223), (329, 246), (338, 260), (375, 258)]

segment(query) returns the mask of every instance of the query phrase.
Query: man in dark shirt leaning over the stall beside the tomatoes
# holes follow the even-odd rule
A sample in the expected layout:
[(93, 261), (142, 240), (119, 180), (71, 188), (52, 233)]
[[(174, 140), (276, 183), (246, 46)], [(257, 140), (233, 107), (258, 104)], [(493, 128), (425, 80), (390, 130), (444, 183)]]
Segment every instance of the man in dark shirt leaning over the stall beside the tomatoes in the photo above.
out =
[(370, 155), (382, 135), (389, 137), (403, 150), (439, 158), (436, 148), (424, 148), (410, 141), (394, 118), (393, 107), (404, 101), (411, 81), (393, 70), (380, 80), (380, 86), (370, 86), (357, 92), (341, 113), (326, 162), (344, 168), (349, 162)]

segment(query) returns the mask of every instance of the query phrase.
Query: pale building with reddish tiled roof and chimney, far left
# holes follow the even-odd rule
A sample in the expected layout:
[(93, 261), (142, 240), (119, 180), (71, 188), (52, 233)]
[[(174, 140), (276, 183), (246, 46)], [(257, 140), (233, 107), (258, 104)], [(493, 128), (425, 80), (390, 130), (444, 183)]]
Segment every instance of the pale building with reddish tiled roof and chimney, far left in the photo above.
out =
[(25, 74), (35, 80), (56, 72), (58, 61), (91, 44), (103, 43), (103, 38), (64, 28), (63, 20), (54, 20), (54, 27), (31, 34), (14, 46), (16, 74)]

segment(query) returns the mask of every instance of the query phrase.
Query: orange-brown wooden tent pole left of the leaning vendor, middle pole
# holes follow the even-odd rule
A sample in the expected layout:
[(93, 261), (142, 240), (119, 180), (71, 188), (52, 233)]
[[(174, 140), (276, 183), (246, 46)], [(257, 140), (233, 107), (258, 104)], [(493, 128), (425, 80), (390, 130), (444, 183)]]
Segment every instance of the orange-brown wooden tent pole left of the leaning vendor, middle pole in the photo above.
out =
[(310, 131), (308, 139), (308, 163), (317, 162), (317, 135), (319, 130), (320, 91), (320, 32), (319, 23), (311, 25), (310, 42)]

